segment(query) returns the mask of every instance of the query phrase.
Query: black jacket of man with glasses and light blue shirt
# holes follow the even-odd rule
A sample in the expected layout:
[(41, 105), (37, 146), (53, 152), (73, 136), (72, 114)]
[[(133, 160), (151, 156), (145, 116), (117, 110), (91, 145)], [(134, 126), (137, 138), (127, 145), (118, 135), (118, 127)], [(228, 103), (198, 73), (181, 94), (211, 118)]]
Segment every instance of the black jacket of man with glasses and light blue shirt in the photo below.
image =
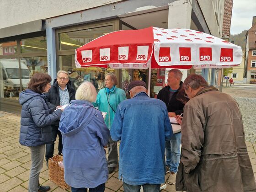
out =
[[(75, 89), (71, 87), (70, 80), (67, 83), (67, 90), (69, 91), (69, 102), (75, 100)], [(54, 110), (57, 106), (60, 105), (59, 84), (57, 82), (57, 79), (53, 80), (53, 85), (51, 86), (50, 90), (45, 93), (45, 96), (47, 98), (49, 108)], [(59, 126), (59, 120), (53, 122), (52, 125)]]

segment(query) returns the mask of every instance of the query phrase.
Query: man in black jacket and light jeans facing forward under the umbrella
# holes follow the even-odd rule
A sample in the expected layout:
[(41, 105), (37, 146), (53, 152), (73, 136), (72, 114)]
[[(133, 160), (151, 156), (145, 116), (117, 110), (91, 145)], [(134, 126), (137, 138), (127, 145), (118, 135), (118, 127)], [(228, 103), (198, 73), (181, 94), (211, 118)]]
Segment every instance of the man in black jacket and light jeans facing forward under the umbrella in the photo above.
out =
[[(164, 101), (169, 117), (176, 117), (183, 112), (184, 103), (177, 99), (183, 82), (182, 73), (179, 69), (171, 69), (168, 73), (167, 86), (161, 89), (157, 98)], [(176, 173), (181, 154), (181, 132), (172, 135), (171, 140), (165, 143), (166, 171), (170, 172), (168, 183), (175, 184)]]

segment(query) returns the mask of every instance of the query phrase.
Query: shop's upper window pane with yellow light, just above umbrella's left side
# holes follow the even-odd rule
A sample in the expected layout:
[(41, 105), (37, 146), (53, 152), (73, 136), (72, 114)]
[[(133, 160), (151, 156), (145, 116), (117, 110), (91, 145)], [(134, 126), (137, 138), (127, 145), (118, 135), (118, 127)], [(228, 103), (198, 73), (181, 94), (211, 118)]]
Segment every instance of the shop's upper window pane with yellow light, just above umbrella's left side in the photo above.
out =
[(59, 33), (59, 50), (80, 48), (85, 43), (113, 31), (113, 26), (96, 27), (73, 32)]

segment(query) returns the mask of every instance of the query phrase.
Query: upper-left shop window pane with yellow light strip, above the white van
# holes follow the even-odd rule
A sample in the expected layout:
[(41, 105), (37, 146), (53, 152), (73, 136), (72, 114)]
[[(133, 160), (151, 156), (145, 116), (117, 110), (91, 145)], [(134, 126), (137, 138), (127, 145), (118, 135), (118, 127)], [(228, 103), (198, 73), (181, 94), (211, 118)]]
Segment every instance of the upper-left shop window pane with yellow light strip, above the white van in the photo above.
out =
[(21, 53), (47, 52), (46, 37), (21, 39)]

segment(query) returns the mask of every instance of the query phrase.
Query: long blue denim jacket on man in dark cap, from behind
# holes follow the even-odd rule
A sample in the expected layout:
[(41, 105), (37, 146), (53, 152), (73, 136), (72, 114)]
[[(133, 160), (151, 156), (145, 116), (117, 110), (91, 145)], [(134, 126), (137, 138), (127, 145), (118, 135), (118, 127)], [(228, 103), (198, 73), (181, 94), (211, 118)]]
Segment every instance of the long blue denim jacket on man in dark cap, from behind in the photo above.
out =
[(165, 140), (172, 128), (163, 101), (140, 92), (121, 102), (110, 135), (121, 140), (119, 180), (129, 185), (165, 182)]

